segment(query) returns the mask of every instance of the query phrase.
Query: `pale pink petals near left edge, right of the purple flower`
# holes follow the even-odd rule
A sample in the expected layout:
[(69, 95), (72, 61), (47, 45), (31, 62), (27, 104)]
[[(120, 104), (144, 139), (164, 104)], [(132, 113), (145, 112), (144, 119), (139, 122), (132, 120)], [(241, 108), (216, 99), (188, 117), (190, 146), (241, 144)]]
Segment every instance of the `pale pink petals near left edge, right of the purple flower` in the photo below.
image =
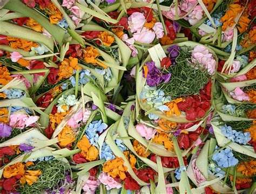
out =
[(9, 125), (18, 129), (32, 126), (39, 119), (39, 116), (29, 116), (26, 114), (11, 114)]

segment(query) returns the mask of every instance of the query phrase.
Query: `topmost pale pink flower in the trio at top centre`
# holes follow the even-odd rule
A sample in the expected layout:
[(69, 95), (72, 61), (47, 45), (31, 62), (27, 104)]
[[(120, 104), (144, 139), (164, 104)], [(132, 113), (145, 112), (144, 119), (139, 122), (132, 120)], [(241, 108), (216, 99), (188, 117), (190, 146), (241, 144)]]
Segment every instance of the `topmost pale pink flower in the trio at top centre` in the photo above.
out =
[(146, 18), (143, 13), (134, 12), (128, 18), (129, 29), (131, 32), (138, 32), (142, 29), (144, 23), (146, 22)]

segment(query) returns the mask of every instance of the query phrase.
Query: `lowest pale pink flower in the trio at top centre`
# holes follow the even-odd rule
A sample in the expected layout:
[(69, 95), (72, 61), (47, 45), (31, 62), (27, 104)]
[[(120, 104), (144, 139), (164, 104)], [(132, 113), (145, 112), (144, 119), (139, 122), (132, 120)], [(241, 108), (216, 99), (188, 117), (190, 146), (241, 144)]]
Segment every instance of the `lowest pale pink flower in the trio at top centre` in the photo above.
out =
[(151, 44), (154, 38), (156, 38), (156, 34), (147, 29), (147, 27), (143, 27), (142, 31), (133, 34), (133, 38), (139, 43)]

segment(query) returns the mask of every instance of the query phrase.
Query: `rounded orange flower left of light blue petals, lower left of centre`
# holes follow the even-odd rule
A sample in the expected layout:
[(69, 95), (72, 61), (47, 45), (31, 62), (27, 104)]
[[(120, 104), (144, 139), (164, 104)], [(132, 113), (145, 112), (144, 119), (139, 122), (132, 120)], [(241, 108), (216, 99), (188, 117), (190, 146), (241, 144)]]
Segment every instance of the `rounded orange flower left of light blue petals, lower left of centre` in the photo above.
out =
[(60, 147), (65, 147), (76, 140), (76, 134), (71, 127), (65, 126), (58, 134), (58, 140)]

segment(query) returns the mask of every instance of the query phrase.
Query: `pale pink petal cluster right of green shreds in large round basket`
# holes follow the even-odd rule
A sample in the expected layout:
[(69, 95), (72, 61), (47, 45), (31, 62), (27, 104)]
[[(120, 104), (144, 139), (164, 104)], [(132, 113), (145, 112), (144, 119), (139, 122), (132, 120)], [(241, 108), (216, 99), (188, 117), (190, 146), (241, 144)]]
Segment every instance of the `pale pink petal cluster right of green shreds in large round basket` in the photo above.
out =
[(197, 45), (192, 51), (192, 63), (205, 67), (210, 75), (215, 73), (216, 61), (212, 54), (203, 45)]

